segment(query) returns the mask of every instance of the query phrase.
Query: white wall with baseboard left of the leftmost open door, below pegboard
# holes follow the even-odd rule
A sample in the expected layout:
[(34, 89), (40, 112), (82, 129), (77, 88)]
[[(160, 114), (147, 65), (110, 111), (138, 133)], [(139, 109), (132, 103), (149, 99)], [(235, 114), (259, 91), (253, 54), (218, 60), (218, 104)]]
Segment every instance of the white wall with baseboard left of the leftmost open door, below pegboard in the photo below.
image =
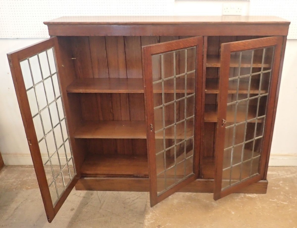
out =
[(4, 164), (32, 164), (6, 53), (42, 39), (0, 39), (0, 151)]

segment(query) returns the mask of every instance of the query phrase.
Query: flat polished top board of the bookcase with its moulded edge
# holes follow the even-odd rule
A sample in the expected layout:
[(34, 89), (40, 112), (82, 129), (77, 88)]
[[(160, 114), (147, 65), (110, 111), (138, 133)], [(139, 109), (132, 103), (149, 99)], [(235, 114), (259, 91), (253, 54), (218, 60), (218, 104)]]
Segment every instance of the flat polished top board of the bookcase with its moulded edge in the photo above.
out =
[(287, 24), (275, 16), (68, 16), (45, 21), (46, 25), (224, 25)]

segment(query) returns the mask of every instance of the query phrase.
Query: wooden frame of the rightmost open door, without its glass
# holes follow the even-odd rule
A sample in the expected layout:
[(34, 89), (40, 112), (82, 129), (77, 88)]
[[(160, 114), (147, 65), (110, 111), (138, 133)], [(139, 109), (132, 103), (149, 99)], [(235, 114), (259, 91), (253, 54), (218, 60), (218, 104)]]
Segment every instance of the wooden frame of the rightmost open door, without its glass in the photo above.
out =
[[(283, 37), (265, 37), (237, 42), (224, 43), (221, 46), (221, 67), (219, 81), (219, 100), (218, 100), (218, 124), (216, 131), (215, 145), (215, 178), (214, 178), (214, 200), (218, 200), (231, 193), (235, 193), (253, 183), (264, 178), (266, 158), (268, 156), (269, 138), (273, 120), (273, 113), (276, 94), (278, 75), (280, 67), (280, 58), (282, 54)], [(233, 52), (253, 50), (265, 47), (274, 46), (274, 58), (272, 60), (271, 84), (268, 91), (268, 101), (266, 109), (266, 119), (264, 125), (263, 141), (261, 145), (261, 156), (259, 164), (259, 174), (240, 181), (234, 186), (222, 190), (222, 175), (223, 175), (223, 158), (224, 158), (224, 143), (225, 143), (225, 119), (227, 114), (227, 96), (228, 96), (228, 80), (230, 71), (230, 56)]]

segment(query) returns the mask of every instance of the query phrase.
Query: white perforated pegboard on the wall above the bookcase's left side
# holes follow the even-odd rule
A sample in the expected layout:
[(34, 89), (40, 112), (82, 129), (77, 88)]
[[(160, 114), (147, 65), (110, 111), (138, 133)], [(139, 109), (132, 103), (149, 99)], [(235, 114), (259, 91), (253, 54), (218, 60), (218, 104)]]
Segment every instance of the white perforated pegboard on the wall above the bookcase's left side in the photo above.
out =
[(0, 38), (48, 37), (42, 22), (74, 15), (168, 15), (174, 0), (0, 0)]

